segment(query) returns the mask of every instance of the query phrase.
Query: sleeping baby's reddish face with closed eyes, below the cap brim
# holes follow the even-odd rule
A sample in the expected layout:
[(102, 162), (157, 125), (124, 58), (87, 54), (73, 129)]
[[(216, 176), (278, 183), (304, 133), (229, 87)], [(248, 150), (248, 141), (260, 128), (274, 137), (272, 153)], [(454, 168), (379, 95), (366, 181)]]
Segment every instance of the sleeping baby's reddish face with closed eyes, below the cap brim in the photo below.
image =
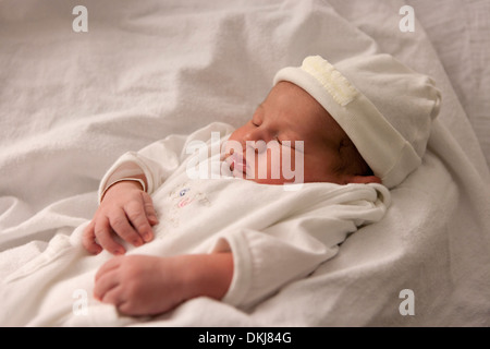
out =
[(258, 183), (343, 184), (346, 180), (336, 169), (345, 136), (315, 98), (292, 83), (280, 82), (252, 119), (231, 134), (225, 160), (235, 177)]

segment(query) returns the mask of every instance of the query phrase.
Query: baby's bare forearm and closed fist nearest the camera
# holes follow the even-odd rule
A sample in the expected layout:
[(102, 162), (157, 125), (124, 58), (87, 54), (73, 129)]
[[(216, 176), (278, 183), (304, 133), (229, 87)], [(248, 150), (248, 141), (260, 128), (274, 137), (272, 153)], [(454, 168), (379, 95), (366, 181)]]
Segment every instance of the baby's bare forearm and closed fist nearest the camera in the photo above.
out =
[(117, 256), (98, 270), (94, 294), (123, 314), (155, 315), (200, 296), (221, 300), (232, 277), (230, 252)]

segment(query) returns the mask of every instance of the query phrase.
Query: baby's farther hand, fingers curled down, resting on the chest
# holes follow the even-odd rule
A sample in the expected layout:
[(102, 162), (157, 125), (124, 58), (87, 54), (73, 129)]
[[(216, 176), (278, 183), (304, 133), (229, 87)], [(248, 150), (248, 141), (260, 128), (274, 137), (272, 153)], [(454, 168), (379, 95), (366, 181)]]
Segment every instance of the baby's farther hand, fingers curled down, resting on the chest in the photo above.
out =
[(142, 190), (140, 184), (119, 182), (106, 192), (93, 220), (84, 230), (82, 243), (90, 253), (106, 249), (113, 254), (124, 254), (126, 251), (114, 240), (114, 234), (138, 246), (152, 240), (151, 226), (156, 224), (158, 218), (151, 197)]

